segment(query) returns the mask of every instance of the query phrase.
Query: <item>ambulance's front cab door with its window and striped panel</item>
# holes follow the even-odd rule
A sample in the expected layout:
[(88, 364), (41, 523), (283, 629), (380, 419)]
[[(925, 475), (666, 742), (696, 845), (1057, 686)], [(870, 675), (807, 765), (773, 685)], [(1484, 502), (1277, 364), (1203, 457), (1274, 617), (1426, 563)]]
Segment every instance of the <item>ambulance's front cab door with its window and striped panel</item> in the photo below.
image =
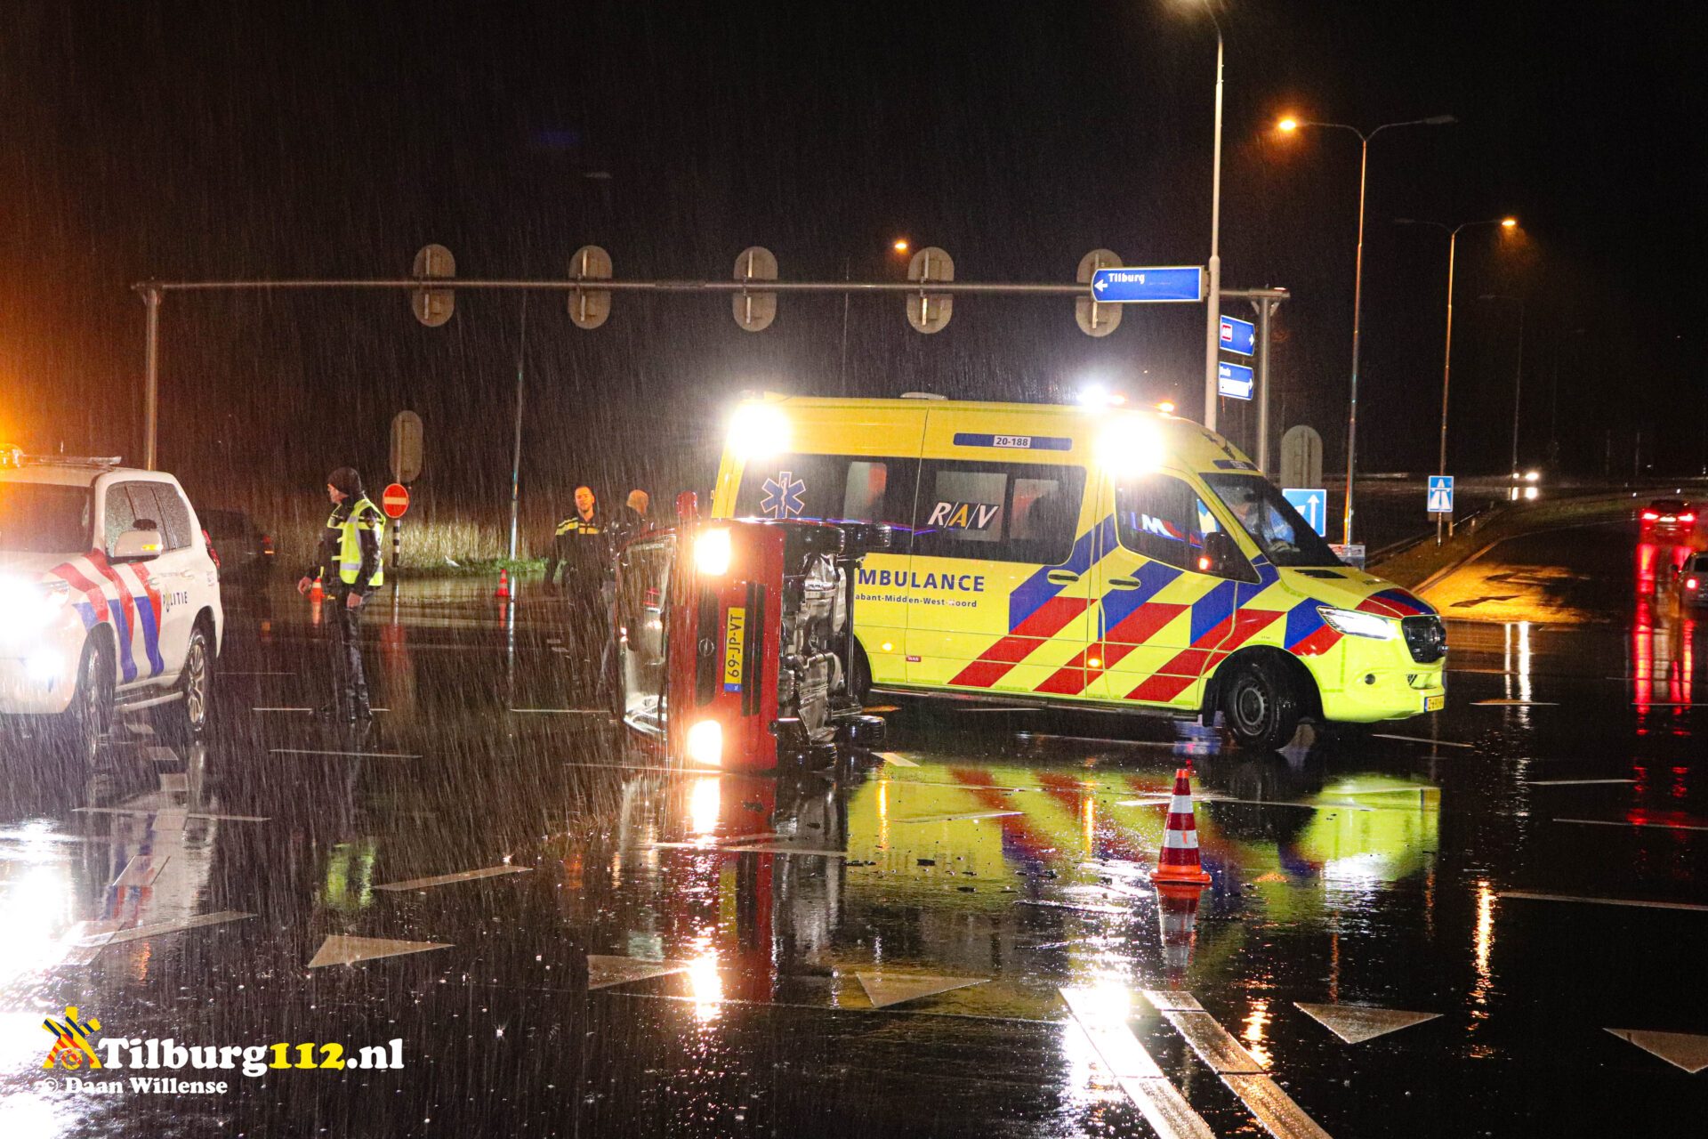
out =
[(1192, 485), (1155, 471), (1112, 483), (1115, 524), (1097, 564), (1102, 700), (1196, 707), (1228, 637), (1238, 584), (1201, 570), (1204, 534), (1221, 529)]

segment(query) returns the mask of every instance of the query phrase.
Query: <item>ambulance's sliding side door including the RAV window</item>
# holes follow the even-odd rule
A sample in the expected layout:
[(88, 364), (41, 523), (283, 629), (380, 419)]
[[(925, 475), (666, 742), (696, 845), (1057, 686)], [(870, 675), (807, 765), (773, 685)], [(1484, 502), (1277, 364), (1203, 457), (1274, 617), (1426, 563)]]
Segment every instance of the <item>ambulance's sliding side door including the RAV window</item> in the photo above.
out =
[(905, 582), (907, 680), (1079, 697), (1093, 526), (1085, 468), (926, 459)]

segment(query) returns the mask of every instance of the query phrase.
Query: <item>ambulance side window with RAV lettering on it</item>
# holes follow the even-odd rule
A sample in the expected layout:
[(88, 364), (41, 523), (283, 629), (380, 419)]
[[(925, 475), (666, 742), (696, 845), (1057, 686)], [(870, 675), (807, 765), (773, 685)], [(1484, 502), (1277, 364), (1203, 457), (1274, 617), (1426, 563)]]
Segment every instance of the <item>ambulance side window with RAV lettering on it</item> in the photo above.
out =
[(1073, 552), (1083, 492), (1076, 466), (926, 463), (914, 552), (1061, 565)]

